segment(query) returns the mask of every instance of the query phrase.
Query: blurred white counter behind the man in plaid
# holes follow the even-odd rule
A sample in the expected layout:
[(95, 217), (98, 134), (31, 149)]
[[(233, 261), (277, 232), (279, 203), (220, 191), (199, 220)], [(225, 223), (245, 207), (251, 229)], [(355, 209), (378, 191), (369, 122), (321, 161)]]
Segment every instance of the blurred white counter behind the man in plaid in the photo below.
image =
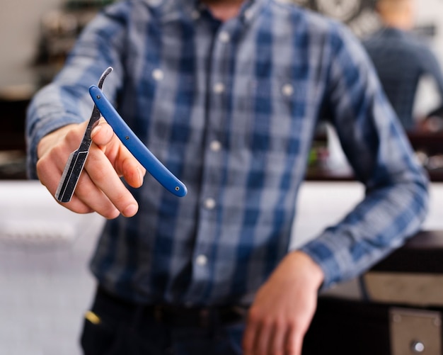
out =
[[(355, 181), (306, 181), (292, 245), (337, 222), (363, 194)], [(0, 313), (8, 320), (0, 324), (0, 344), (5, 354), (81, 354), (81, 315), (95, 285), (87, 265), (104, 222), (95, 213), (63, 208), (38, 181), (0, 181)], [(443, 230), (443, 184), (431, 186), (424, 228)], [(347, 295), (359, 292), (349, 285)], [(340, 288), (333, 291), (343, 294)]]

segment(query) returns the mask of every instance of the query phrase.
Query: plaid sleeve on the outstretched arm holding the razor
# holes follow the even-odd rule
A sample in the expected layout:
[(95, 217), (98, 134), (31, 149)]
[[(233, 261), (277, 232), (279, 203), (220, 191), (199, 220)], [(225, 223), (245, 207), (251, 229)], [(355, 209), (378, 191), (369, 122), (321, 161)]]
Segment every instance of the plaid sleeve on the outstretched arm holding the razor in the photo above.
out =
[(51, 84), (33, 97), (26, 116), (27, 169), (37, 179), (37, 145), (41, 138), (70, 123), (89, 119), (93, 101), (88, 93), (108, 67), (115, 70), (106, 79), (103, 91), (114, 99), (121, 86), (122, 47), (125, 43), (126, 2), (110, 6), (88, 24), (71, 51), (64, 68)]

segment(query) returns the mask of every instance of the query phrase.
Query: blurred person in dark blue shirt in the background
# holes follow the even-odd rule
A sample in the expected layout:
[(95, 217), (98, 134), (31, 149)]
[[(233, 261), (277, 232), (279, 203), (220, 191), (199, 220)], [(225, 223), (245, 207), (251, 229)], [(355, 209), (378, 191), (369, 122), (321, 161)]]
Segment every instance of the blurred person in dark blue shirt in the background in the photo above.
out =
[(420, 79), (432, 77), (443, 104), (443, 73), (430, 48), (411, 30), (415, 21), (413, 0), (379, 0), (384, 26), (364, 40), (386, 95), (406, 130), (414, 130), (415, 94)]

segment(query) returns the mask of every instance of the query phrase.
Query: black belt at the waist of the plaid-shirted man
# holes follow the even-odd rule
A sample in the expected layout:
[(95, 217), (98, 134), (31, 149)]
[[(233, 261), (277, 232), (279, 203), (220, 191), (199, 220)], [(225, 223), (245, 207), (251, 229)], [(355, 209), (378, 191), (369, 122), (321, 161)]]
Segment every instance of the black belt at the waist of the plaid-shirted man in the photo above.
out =
[(108, 312), (113, 309), (117, 317), (130, 320), (137, 313), (139, 320), (149, 319), (174, 327), (210, 327), (211, 325), (229, 325), (243, 322), (248, 308), (245, 306), (221, 307), (185, 307), (177, 305), (139, 305), (131, 303), (103, 288), (98, 288), (96, 305), (98, 315), (100, 309)]

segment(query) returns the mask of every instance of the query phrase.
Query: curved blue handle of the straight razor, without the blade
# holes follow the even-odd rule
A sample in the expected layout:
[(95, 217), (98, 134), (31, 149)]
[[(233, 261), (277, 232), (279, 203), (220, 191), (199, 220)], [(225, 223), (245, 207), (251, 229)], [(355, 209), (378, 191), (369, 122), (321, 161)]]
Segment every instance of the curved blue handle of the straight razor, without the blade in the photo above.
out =
[(117, 113), (114, 106), (108, 101), (103, 91), (98, 86), (92, 85), (89, 88), (94, 103), (105, 120), (113, 128), (115, 135), (119, 137), (122, 143), (134, 155), (143, 167), (159, 181), (159, 183), (178, 197), (183, 197), (188, 192), (185, 184), (176, 178), (154, 154), (139, 140), (139, 137), (132, 132), (131, 128), (125, 123), (123, 118)]

